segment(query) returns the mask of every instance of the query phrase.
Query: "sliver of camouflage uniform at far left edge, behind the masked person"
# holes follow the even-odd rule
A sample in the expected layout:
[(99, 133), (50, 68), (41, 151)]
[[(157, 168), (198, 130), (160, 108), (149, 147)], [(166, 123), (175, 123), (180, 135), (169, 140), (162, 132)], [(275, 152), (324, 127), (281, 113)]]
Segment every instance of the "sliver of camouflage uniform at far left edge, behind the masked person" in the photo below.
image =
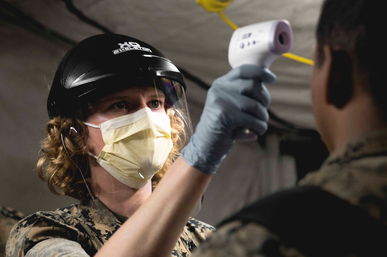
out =
[(25, 215), (8, 207), (0, 206), (0, 257), (5, 256), (5, 243), (12, 227)]

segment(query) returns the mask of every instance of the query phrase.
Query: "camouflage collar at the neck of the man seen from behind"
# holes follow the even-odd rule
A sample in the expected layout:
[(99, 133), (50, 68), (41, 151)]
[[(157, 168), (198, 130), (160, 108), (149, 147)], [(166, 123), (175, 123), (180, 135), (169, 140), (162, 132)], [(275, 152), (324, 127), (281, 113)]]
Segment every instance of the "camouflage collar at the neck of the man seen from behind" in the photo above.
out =
[(387, 154), (387, 129), (371, 131), (349, 140), (345, 145), (334, 150), (325, 160), (324, 166), (346, 164), (349, 161), (367, 156)]

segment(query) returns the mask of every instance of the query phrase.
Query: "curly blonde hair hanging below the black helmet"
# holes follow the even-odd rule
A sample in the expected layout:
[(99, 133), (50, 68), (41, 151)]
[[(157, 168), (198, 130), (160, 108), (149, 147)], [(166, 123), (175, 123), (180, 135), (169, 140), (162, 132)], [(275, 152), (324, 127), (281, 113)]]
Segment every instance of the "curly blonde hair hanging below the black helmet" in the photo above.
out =
[[(166, 113), (171, 120), (173, 148), (164, 166), (153, 176), (152, 188), (157, 186), (180, 155), (187, 139), (183, 120), (178, 117), (178, 113), (172, 108), (167, 109)], [(85, 135), (85, 132), (86, 127), (79, 118), (55, 117), (47, 123), (47, 137), (41, 142), (41, 156), (36, 168), (39, 178), (47, 182), (52, 193), (65, 194), (78, 200), (89, 195), (85, 184), (89, 183), (91, 175), (85, 156), (89, 149), (84, 143), (84, 136), (80, 136)]]

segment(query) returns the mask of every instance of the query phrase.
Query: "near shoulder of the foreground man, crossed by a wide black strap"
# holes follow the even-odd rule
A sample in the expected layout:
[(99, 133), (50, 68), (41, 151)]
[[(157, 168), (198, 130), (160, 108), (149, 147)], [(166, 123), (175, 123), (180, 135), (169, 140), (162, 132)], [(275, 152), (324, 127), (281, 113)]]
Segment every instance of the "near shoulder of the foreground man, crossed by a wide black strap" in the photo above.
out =
[(319, 187), (301, 186), (225, 220), (197, 256), (309, 256), (317, 249), (322, 256), (379, 256), (387, 251), (386, 239), (386, 225), (366, 211)]

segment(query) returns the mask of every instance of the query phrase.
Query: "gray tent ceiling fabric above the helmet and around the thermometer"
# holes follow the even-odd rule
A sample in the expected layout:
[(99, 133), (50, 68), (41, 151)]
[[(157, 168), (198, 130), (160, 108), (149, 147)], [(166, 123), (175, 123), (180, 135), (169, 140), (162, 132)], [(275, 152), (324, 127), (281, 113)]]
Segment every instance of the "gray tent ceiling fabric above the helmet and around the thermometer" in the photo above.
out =
[[(106, 31), (138, 38), (207, 84), (230, 69), (227, 52), (233, 29), (194, 0), (6, 2), (69, 42)], [(295, 39), (291, 52), (311, 58), (320, 4), (321, 0), (235, 0), (224, 14), (240, 27), (265, 20), (289, 20)], [(310, 66), (280, 57), (271, 69), (278, 76), (276, 83), (268, 85), (272, 111), (299, 127), (314, 128), (308, 90)], [(194, 86), (187, 96), (198, 104), (205, 98)]]

